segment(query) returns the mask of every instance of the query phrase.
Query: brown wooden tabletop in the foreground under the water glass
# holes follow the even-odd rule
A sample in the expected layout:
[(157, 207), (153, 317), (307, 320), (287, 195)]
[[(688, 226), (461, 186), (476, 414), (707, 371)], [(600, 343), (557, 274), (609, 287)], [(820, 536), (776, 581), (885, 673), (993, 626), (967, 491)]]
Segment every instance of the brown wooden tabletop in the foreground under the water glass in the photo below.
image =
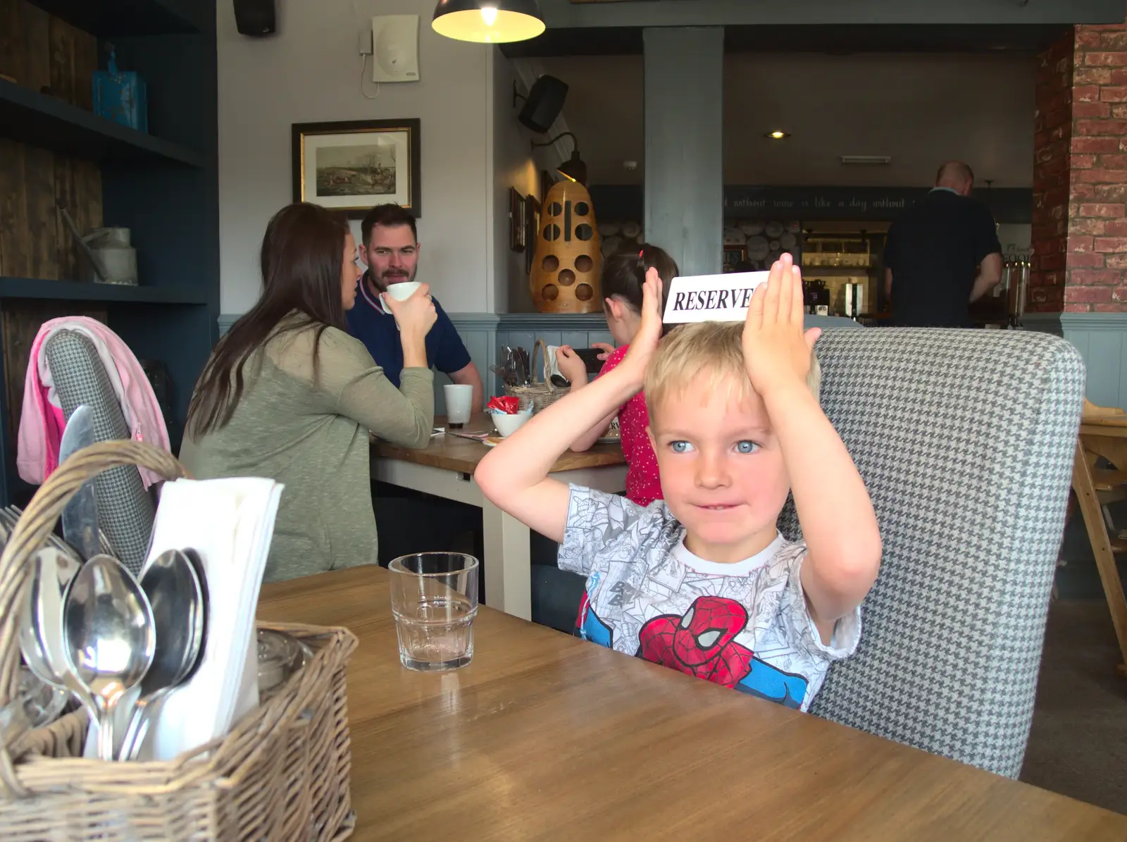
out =
[(399, 665), (388, 573), (266, 585), (347, 626), (356, 842), (1122, 842), (1127, 816), (482, 608), (450, 673)]

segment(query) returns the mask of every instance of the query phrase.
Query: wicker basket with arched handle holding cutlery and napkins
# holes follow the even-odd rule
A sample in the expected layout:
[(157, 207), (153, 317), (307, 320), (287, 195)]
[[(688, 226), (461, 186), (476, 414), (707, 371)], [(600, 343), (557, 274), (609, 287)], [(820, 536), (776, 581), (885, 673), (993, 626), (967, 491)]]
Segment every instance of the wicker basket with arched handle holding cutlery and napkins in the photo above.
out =
[[(0, 704), (16, 694), (19, 605), (28, 560), (87, 479), (137, 464), (174, 479), (176, 459), (150, 444), (103, 442), (76, 453), (39, 488), (0, 556)], [(316, 656), (221, 739), (161, 762), (82, 757), (87, 716), (68, 714), (0, 746), (0, 839), (341, 840), (354, 827), (345, 668), (346, 629), (281, 624)]]

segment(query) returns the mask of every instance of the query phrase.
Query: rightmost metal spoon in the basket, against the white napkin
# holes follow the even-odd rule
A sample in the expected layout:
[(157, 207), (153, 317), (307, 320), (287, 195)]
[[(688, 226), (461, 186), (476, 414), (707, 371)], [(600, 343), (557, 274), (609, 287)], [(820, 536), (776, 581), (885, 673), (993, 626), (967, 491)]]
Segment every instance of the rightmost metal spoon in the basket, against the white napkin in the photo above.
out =
[(149, 732), (148, 708), (183, 684), (195, 671), (203, 649), (206, 611), (204, 583), (180, 550), (166, 550), (141, 576), (141, 590), (152, 606), (157, 649), (141, 680), (141, 695), (130, 718), (117, 756), (133, 760)]

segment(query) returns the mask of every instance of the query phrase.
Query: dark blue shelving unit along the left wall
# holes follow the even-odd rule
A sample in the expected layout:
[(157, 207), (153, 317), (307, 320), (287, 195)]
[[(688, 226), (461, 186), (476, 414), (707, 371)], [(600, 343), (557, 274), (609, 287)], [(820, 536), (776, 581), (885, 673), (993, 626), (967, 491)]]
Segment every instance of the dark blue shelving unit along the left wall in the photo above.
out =
[[(112, 43), (149, 89), (149, 133), (0, 80), (0, 136), (95, 161), (103, 218), (132, 232), (140, 286), (0, 276), (5, 300), (98, 302), (139, 358), (172, 381), (169, 435), (179, 449), (192, 389), (218, 340), (219, 185), (215, 3), (207, 0), (29, 0)], [(103, 64), (103, 67), (105, 67)], [(76, 307), (78, 309), (78, 307)], [(20, 374), (21, 376), (21, 374)], [(28, 493), (0, 389), (0, 499)]]

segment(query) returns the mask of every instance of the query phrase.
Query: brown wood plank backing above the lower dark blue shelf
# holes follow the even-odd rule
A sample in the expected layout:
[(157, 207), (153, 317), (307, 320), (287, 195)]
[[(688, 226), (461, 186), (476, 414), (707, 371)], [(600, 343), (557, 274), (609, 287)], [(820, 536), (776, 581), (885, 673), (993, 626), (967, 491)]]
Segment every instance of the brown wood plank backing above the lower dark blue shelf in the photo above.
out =
[[(0, 0), (0, 73), (91, 108), (98, 43), (26, 0)], [(87, 269), (57, 207), (79, 230), (101, 225), (97, 165), (0, 139), (0, 275), (77, 280)]]

